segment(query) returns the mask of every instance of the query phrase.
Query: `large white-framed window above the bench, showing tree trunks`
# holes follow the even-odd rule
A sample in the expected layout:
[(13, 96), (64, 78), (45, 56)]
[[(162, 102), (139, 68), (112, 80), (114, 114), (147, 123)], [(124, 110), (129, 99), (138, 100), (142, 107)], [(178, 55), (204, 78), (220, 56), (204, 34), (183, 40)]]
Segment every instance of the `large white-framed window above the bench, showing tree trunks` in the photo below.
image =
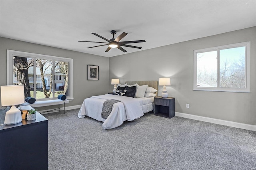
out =
[(24, 85), (25, 98), (73, 99), (72, 69), (70, 58), (7, 50), (7, 84)]

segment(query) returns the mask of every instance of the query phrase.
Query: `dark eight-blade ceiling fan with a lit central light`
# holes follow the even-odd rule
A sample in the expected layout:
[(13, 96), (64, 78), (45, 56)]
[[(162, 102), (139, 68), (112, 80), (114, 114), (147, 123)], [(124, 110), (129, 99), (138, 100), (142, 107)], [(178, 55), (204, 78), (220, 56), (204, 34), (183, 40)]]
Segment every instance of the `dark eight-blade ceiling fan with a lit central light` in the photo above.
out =
[[(138, 49), (141, 49), (142, 47), (137, 47), (137, 46), (133, 46), (133, 45), (127, 45), (126, 43), (140, 43), (140, 42), (146, 42), (145, 40), (136, 40), (136, 41), (126, 41), (126, 42), (120, 42), (120, 40), (122, 38), (124, 38), (124, 36), (127, 35), (126, 32), (123, 32), (122, 34), (120, 34), (120, 36), (118, 36), (117, 38), (114, 38), (114, 35), (116, 34), (116, 31), (115, 30), (112, 30), (110, 31), (110, 33), (113, 35), (113, 38), (111, 38), (110, 40), (96, 34), (96, 33), (92, 33), (93, 35), (99, 37), (99, 38), (102, 38), (103, 40), (106, 40), (107, 42), (94, 42), (94, 43), (107, 43), (107, 44), (104, 44), (104, 45), (108, 45), (108, 48), (106, 49), (105, 52), (108, 52), (111, 48), (118, 48), (120, 49), (121, 51), (123, 52), (126, 52), (125, 49), (123, 49), (122, 47), (120, 46), (123, 46), (123, 47), (132, 47), (132, 48), (138, 48)], [(88, 41), (78, 41), (78, 42), (88, 42)], [(97, 46), (93, 46), (93, 47), (100, 47), (100, 46), (104, 46), (104, 45), (97, 45)], [(87, 48), (93, 48), (93, 47), (87, 47)]]

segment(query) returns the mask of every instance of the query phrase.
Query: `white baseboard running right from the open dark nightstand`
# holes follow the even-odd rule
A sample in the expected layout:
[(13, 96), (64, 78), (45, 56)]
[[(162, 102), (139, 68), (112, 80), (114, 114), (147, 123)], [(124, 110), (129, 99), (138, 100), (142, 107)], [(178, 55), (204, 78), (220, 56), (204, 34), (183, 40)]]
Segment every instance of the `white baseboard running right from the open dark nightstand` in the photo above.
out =
[(190, 114), (180, 113), (180, 112), (175, 112), (175, 116), (184, 117), (184, 118), (188, 118), (188, 119), (194, 119), (197, 121), (215, 123), (218, 125), (225, 125), (225, 126), (229, 126), (229, 127), (242, 128), (242, 129), (246, 129), (246, 130), (256, 131), (256, 125), (249, 125), (249, 124), (245, 124), (245, 123), (225, 121), (225, 120), (221, 120), (221, 119), (214, 119), (214, 118), (210, 118), (210, 117), (190, 115)]

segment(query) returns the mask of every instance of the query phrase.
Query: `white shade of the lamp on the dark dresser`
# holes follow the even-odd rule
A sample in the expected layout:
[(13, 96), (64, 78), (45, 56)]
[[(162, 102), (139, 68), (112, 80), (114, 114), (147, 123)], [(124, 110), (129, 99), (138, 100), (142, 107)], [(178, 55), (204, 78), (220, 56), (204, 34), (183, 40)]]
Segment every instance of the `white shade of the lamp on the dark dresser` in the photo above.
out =
[(11, 106), (25, 103), (23, 85), (1, 86), (1, 105)]

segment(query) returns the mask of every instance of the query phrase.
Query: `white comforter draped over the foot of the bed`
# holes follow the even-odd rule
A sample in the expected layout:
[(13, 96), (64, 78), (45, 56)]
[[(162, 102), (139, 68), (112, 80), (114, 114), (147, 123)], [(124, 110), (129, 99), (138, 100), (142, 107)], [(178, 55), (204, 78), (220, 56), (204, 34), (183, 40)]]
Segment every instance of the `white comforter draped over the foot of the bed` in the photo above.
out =
[[(115, 103), (112, 111), (107, 119), (101, 117), (102, 106), (106, 100), (118, 100), (121, 102)], [(98, 121), (104, 122), (102, 128), (115, 128), (123, 124), (124, 121), (133, 121), (144, 115), (140, 102), (132, 97), (118, 96), (118, 95), (100, 95), (92, 96), (84, 99), (82, 107), (78, 112), (79, 118), (85, 116), (92, 117)]]

